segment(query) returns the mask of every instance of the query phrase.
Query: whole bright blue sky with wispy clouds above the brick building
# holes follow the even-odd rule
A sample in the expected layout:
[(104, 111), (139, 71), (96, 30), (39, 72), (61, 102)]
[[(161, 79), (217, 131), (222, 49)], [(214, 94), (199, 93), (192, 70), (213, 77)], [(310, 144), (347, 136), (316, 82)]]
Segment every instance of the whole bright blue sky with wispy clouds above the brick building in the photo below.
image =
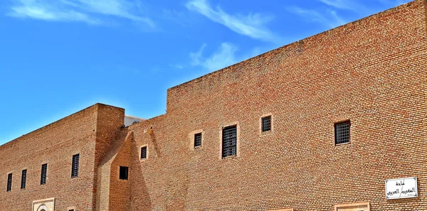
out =
[(0, 144), (101, 102), (145, 119), (169, 87), (410, 0), (2, 0)]

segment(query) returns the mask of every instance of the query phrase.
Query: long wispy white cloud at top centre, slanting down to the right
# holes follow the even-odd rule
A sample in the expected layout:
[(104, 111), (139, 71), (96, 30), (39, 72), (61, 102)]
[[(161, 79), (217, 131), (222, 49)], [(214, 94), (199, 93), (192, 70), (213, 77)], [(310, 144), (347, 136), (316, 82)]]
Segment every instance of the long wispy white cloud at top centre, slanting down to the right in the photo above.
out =
[(281, 38), (265, 26), (266, 23), (272, 20), (271, 16), (262, 16), (259, 13), (249, 14), (248, 16), (231, 15), (219, 7), (212, 9), (206, 0), (191, 0), (186, 4), (186, 8), (199, 12), (211, 19), (211, 21), (221, 23), (223, 26), (244, 36), (272, 43), (280, 43)]

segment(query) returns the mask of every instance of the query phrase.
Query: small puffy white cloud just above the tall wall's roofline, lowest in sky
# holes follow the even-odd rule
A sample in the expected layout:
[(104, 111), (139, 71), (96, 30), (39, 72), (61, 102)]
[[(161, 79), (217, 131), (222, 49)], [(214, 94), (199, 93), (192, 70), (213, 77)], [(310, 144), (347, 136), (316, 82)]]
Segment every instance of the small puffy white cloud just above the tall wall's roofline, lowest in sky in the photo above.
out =
[(201, 66), (206, 70), (214, 71), (223, 67), (233, 65), (239, 60), (236, 60), (235, 53), (238, 48), (231, 43), (221, 43), (221, 46), (212, 53), (209, 57), (205, 58), (203, 53), (206, 44), (201, 45), (201, 48), (196, 53), (190, 53), (191, 65)]

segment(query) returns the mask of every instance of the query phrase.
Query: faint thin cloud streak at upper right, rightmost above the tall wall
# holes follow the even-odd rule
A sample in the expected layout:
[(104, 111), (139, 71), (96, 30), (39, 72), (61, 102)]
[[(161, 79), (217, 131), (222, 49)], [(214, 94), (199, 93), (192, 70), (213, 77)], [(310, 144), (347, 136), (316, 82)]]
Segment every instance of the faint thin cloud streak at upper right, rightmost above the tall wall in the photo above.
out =
[(288, 11), (295, 13), (303, 18), (307, 18), (308, 21), (322, 23), (329, 28), (335, 28), (341, 26), (347, 21), (337, 15), (337, 12), (328, 10), (326, 13), (320, 13), (312, 9), (301, 9), (300, 7), (294, 6), (288, 8)]

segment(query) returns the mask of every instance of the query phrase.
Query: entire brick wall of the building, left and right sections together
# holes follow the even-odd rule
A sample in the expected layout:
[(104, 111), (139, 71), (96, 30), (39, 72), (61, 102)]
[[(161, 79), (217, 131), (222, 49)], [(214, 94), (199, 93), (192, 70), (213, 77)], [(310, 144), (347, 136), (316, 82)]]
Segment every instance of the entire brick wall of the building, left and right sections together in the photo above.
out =
[[(172, 87), (167, 114), (127, 129), (123, 109), (95, 104), (4, 144), (0, 210), (29, 210), (52, 197), (56, 210), (331, 211), (353, 202), (427, 210), (426, 4), (416, 0)], [(265, 114), (273, 130), (261, 133)], [(335, 146), (334, 123), (347, 119), (351, 143)], [(223, 159), (221, 129), (231, 124), (238, 156)], [(149, 127), (153, 133), (144, 133)], [(195, 131), (200, 148), (191, 144)], [(80, 171), (71, 179), (75, 153)], [(39, 185), (43, 163), (48, 179)], [(127, 181), (118, 180), (121, 165), (130, 166)], [(410, 176), (418, 177), (418, 198), (385, 200), (384, 180)]]

